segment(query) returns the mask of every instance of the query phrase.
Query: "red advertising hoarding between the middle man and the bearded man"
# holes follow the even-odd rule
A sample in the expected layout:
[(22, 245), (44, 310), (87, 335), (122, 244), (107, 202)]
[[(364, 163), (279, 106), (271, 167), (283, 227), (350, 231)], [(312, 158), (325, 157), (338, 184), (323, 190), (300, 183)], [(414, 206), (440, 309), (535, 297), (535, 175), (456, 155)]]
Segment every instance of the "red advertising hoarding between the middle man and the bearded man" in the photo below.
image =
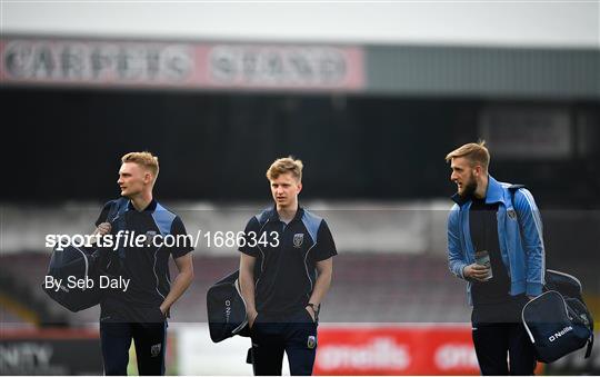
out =
[(471, 328), (326, 327), (316, 375), (479, 375)]

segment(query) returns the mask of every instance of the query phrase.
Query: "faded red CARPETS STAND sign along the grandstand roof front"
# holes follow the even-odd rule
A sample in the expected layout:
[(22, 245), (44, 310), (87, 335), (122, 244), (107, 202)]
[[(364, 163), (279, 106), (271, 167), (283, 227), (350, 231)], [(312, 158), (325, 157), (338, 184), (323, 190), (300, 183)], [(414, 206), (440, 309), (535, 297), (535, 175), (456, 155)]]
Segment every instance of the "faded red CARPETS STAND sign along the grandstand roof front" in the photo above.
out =
[(359, 90), (357, 47), (0, 40), (0, 82), (184, 89)]

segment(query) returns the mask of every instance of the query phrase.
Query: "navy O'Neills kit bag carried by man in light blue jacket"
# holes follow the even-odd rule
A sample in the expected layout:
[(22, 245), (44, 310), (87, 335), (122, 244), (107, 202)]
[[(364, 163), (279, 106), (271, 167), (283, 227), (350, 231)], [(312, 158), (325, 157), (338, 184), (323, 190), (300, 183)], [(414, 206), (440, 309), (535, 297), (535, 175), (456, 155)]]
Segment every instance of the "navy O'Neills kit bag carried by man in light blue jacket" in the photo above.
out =
[(544, 288), (547, 291), (522, 310), (538, 360), (552, 363), (586, 345), (588, 358), (593, 347), (593, 319), (581, 298), (581, 284), (568, 274), (548, 270)]

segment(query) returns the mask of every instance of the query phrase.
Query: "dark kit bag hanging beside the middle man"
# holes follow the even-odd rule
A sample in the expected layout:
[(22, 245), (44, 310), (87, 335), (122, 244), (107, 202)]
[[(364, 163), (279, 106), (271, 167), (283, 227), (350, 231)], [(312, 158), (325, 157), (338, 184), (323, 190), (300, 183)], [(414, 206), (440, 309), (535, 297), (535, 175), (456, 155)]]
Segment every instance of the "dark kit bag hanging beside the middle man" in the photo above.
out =
[(238, 284), (239, 271), (217, 281), (207, 292), (210, 338), (219, 343), (234, 335), (248, 336), (246, 302)]

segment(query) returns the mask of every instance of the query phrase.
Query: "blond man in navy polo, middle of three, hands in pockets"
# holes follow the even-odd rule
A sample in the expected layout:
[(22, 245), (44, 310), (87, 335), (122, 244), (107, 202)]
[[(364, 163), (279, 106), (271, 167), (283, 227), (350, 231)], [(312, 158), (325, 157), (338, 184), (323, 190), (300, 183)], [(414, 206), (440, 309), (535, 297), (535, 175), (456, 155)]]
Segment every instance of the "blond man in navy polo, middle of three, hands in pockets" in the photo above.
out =
[(336, 244), (327, 222), (298, 205), (302, 161), (277, 159), (267, 170), (274, 201), (252, 217), (240, 247), (240, 286), (252, 338), (254, 375), (311, 375), (321, 302), (331, 284)]

